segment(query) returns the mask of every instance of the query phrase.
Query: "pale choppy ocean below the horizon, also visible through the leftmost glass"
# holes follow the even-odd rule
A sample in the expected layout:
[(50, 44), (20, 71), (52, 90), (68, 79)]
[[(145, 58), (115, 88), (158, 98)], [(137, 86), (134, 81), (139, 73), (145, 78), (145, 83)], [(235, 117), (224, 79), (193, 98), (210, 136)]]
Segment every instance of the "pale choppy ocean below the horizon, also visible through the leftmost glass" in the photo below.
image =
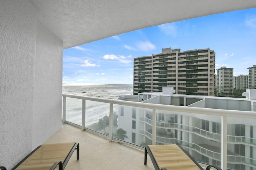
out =
[[(63, 84), (63, 94), (74, 94), (96, 98), (117, 99), (119, 96), (132, 95), (132, 84)], [(117, 108), (114, 107), (114, 111)], [(86, 126), (98, 123), (109, 115), (109, 104), (86, 100)], [(66, 120), (82, 125), (82, 100), (66, 99)]]

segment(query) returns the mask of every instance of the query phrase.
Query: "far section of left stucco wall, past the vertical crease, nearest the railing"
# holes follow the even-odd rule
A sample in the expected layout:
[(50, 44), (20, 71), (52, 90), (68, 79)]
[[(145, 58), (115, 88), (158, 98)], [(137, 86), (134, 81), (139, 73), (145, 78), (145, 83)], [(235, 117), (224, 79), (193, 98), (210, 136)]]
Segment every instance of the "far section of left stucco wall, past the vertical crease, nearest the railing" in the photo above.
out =
[(42, 24), (36, 27), (32, 147), (61, 128), (62, 42)]

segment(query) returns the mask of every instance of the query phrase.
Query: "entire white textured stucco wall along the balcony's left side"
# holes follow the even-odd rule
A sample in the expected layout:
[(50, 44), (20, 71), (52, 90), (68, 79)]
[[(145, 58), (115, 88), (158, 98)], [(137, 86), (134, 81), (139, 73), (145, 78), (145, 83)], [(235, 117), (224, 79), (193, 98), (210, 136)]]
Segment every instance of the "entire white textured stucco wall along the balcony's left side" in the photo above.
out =
[(61, 127), (62, 43), (29, 1), (0, 2), (0, 166), (12, 168)]

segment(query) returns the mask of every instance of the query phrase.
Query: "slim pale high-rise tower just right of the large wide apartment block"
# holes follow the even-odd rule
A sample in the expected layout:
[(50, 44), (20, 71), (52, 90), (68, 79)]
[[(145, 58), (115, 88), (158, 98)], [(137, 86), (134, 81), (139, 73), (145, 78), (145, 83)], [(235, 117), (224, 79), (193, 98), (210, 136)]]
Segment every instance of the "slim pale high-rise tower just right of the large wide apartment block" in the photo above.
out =
[(234, 68), (221, 67), (217, 69), (216, 90), (221, 94), (233, 93), (233, 70)]

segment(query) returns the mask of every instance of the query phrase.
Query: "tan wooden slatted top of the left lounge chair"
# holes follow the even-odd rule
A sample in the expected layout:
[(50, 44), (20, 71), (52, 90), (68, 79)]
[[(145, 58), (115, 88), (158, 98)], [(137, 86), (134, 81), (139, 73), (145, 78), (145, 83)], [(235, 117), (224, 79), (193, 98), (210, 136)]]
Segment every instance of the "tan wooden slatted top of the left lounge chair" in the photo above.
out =
[(66, 159), (76, 143), (45, 144), (22, 162), (16, 170), (49, 170), (56, 161)]

